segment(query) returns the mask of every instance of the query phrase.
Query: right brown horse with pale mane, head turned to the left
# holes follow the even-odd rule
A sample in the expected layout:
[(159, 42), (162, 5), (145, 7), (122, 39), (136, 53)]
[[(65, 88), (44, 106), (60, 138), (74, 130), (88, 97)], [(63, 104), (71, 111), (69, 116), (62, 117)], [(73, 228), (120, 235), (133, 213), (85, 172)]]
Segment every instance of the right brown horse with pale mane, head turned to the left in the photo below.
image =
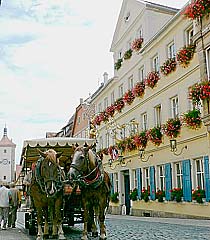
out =
[(84, 210), (82, 240), (88, 239), (88, 224), (91, 223), (92, 236), (98, 236), (94, 215), (99, 221), (100, 239), (107, 239), (105, 214), (109, 206), (111, 181), (104, 171), (101, 159), (88, 146), (75, 149), (68, 173), (70, 183), (81, 189)]

